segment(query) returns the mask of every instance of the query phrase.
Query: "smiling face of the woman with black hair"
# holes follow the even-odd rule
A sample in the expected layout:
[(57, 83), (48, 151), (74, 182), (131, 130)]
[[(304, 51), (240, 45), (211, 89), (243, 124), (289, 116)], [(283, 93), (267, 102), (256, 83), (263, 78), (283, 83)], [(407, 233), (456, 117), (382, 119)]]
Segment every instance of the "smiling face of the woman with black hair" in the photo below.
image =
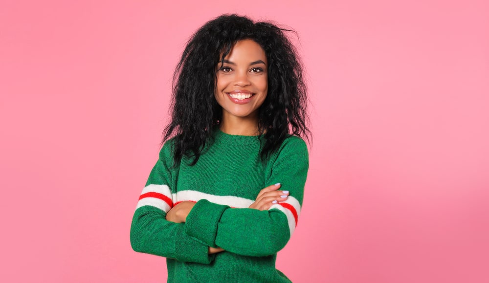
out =
[(252, 40), (237, 42), (224, 64), (217, 65), (215, 97), (222, 107), (222, 121), (257, 120), (267, 97), (267, 56)]

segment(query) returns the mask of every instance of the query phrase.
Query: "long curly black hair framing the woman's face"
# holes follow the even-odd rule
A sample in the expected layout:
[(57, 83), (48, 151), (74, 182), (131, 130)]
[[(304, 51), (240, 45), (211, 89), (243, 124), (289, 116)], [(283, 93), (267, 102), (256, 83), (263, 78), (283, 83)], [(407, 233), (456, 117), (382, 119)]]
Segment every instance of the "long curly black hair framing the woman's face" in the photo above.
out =
[(244, 39), (259, 44), (268, 62), (267, 97), (258, 110), (258, 130), (265, 139), (261, 158), (277, 150), (289, 134), (310, 139), (303, 66), (286, 32), (293, 31), (238, 15), (222, 15), (195, 32), (175, 69), (172, 117), (163, 132), (162, 143), (174, 137), (175, 165), (183, 155), (194, 157), (194, 165), (211, 141), (222, 115), (214, 97), (216, 66)]

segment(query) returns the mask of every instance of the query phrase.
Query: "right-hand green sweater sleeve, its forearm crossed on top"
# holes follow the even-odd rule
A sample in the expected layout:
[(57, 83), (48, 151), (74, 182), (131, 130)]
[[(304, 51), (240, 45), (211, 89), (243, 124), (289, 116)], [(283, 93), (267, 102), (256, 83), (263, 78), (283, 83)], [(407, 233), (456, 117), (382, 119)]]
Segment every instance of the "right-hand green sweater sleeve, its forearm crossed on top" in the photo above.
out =
[(187, 216), (186, 233), (209, 246), (244, 256), (268, 256), (281, 250), (297, 225), (309, 168), (307, 146), (297, 140), (300, 143), (294, 151), (279, 153), (267, 178), (267, 185), (281, 183), (280, 190), (289, 191), (285, 202), (260, 211), (202, 199)]

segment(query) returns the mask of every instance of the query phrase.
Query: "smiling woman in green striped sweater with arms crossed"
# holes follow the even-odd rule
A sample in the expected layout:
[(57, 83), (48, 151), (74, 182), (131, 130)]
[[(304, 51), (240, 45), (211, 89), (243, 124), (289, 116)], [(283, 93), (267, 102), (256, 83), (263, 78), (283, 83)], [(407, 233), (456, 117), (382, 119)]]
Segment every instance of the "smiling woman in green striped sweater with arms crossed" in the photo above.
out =
[(167, 258), (168, 282), (290, 282), (275, 259), (300, 214), (309, 130), (284, 31), (223, 15), (182, 54), (131, 227), (135, 251)]

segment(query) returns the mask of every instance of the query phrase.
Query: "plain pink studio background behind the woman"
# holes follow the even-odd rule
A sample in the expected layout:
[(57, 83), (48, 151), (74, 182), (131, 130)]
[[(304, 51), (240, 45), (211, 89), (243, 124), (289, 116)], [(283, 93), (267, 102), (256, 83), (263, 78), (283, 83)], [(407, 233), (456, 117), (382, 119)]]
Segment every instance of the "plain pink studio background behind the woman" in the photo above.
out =
[[(132, 251), (186, 39), (289, 25), (314, 142), (277, 267), (293, 282), (489, 282), (486, 0), (0, 4), (2, 282), (165, 282)], [(409, 3), (407, 3), (409, 2)]]

